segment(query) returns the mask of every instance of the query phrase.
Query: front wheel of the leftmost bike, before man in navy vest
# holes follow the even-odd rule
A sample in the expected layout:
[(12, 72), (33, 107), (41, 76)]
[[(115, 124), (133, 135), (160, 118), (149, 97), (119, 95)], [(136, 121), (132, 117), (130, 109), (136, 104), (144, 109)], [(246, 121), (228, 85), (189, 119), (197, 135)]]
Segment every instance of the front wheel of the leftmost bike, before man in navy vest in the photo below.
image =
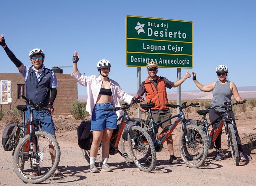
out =
[[(26, 135), (14, 152), (14, 170), (25, 183), (41, 183), (57, 169), (60, 161), (60, 146), (48, 132), (36, 131), (33, 135), (33, 151)], [(21, 167), (23, 166), (23, 169)]]

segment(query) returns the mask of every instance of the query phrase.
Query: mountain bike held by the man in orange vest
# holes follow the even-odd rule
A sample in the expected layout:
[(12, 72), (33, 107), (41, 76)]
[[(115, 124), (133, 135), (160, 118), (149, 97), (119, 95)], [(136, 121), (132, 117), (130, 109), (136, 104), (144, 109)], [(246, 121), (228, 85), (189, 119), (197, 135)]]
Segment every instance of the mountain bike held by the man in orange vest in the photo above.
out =
[[(183, 109), (195, 107), (199, 105), (199, 103), (191, 103), (189, 105), (186, 105), (186, 103), (187, 102), (184, 102), (182, 105), (165, 104), (166, 106), (169, 106), (171, 108), (179, 108), (180, 114), (172, 116), (169, 119), (164, 120), (160, 123), (154, 121), (152, 117), (151, 108), (155, 105), (154, 103), (141, 104), (140, 106), (149, 113), (148, 123), (150, 123), (151, 125), (144, 124), (144, 127), (148, 127), (147, 132), (151, 134), (154, 146), (156, 148), (156, 152), (160, 152), (162, 150), (164, 142), (171, 135), (178, 123), (181, 122), (183, 132), (180, 137), (179, 149), (182, 160), (184, 161), (186, 166), (190, 168), (198, 168), (204, 163), (206, 159), (206, 156), (203, 156), (202, 152), (208, 152), (208, 144), (203, 143), (205, 140), (207, 140), (207, 136), (202, 131), (202, 129), (200, 129), (200, 127), (196, 125), (188, 125), (189, 122), (187, 122), (187, 120), (185, 119), (185, 114), (183, 112)], [(173, 124), (166, 125), (162, 129), (160, 134), (156, 137), (156, 127), (173, 118), (176, 118)], [(125, 144), (123, 144), (123, 146), (125, 146)]]

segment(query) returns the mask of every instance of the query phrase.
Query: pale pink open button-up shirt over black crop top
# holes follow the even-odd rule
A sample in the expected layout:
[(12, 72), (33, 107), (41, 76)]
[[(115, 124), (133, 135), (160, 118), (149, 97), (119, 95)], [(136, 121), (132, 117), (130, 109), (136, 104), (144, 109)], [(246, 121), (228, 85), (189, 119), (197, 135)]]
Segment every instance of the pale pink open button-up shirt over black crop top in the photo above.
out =
[[(100, 76), (84, 76), (81, 75), (79, 71), (77, 71), (76, 73), (72, 73), (71, 76), (74, 77), (82, 86), (87, 87), (87, 104), (85, 110), (89, 112), (90, 115), (92, 115), (92, 111), (98, 99), (98, 95), (100, 93), (100, 88), (102, 85), (102, 80)], [(109, 79), (109, 83), (112, 92), (111, 102), (114, 107), (121, 106), (118, 99), (128, 103), (131, 102), (133, 96), (125, 93), (117, 82), (115, 82), (112, 79)], [(122, 112), (122, 110), (118, 110), (116, 112), (117, 117), (121, 116)]]

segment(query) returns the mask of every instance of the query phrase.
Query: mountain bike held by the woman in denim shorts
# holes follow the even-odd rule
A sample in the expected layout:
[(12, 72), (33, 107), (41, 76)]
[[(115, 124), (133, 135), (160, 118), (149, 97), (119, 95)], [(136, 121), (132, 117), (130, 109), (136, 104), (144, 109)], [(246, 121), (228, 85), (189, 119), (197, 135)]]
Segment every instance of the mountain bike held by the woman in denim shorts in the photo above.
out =
[[(127, 158), (127, 153), (122, 153), (118, 144), (122, 138), (124, 128), (128, 129), (128, 146), (131, 158), (139, 170), (144, 172), (151, 172), (156, 168), (156, 150), (153, 141), (148, 132), (140, 126), (129, 126), (128, 122), (134, 122), (128, 115), (128, 110), (131, 106), (137, 104), (139, 100), (133, 101), (130, 105), (128, 103), (122, 104), (123, 107), (113, 107), (104, 109), (104, 111), (117, 111), (123, 110), (124, 114), (120, 117), (121, 122), (118, 124), (117, 129), (114, 129), (110, 139), (109, 155), (119, 153), (122, 157)], [(134, 124), (136, 125), (136, 124)], [(95, 165), (100, 167), (102, 162), (101, 145), (98, 150)], [(83, 150), (83, 155), (88, 163), (90, 163), (90, 150)]]

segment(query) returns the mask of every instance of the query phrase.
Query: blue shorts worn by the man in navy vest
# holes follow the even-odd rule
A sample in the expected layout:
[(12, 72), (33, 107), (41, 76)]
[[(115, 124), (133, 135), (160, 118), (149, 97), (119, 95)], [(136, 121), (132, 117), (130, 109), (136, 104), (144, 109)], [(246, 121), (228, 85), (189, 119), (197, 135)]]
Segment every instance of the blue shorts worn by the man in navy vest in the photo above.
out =
[[(52, 116), (51, 113), (41, 110), (41, 111), (36, 111), (33, 110), (34, 114), (34, 121), (41, 121), (40, 127), (42, 131), (49, 132), (51, 135), (55, 135), (55, 127), (53, 124)], [(30, 110), (25, 112), (25, 118), (26, 121), (29, 120), (30, 118)]]

